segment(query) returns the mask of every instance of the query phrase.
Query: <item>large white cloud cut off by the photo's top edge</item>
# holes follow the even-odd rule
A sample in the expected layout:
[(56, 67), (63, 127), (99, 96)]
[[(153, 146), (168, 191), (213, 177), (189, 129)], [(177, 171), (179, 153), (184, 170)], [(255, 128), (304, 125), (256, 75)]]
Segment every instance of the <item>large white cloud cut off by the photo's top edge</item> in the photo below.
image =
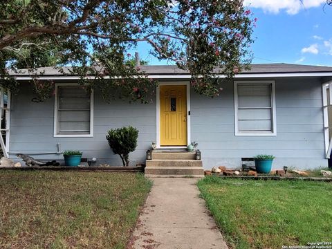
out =
[(299, 10), (318, 7), (325, 2), (326, 0), (244, 0), (244, 4), (252, 8), (262, 8), (274, 14), (286, 10), (290, 15), (297, 14)]

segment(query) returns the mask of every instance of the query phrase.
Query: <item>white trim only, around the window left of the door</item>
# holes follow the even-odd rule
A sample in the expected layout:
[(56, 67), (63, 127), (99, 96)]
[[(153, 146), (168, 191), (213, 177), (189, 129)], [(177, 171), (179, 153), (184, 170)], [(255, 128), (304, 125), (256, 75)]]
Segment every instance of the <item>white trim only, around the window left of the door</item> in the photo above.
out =
[(92, 138), (93, 137), (93, 90), (90, 96), (90, 133), (89, 134), (58, 134), (57, 133), (57, 91), (59, 86), (80, 86), (77, 83), (56, 83), (55, 84), (55, 100), (54, 100), (54, 138)]

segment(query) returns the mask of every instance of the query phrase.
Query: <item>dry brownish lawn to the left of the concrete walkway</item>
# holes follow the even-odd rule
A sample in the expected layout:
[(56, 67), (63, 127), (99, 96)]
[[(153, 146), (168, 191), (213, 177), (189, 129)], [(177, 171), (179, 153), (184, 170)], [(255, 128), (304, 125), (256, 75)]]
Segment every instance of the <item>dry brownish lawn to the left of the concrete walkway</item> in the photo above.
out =
[(0, 248), (125, 248), (151, 188), (142, 174), (0, 172)]

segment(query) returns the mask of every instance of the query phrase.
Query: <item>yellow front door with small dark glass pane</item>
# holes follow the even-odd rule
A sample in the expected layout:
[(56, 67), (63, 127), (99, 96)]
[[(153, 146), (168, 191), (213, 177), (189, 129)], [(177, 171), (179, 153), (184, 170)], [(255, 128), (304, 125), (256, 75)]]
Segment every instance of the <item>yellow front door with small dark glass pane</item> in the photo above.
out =
[(160, 146), (187, 145), (187, 86), (160, 86)]

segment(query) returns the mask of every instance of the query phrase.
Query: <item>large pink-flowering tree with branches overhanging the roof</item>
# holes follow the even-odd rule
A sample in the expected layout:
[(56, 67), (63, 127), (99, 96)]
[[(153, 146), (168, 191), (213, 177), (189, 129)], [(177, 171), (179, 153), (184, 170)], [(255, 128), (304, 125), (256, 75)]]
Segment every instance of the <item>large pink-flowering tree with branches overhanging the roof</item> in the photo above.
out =
[(105, 99), (144, 102), (156, 82), (126, 61), (145, 42), (158, 59), (189, 70), (196, 92), (213, 97), (214, 68), (233, 77), (250, 63), (255, 21), (242, 0), (2, 0), (0, 85), (17, 88), (8, 69), (21, 68), (28, 50), (41, 56), (24, 60), (37, 90), (51, 89), (35, 69), (53, 58), (51, 64), (73, 66), (81, 84), (101, 89)]

